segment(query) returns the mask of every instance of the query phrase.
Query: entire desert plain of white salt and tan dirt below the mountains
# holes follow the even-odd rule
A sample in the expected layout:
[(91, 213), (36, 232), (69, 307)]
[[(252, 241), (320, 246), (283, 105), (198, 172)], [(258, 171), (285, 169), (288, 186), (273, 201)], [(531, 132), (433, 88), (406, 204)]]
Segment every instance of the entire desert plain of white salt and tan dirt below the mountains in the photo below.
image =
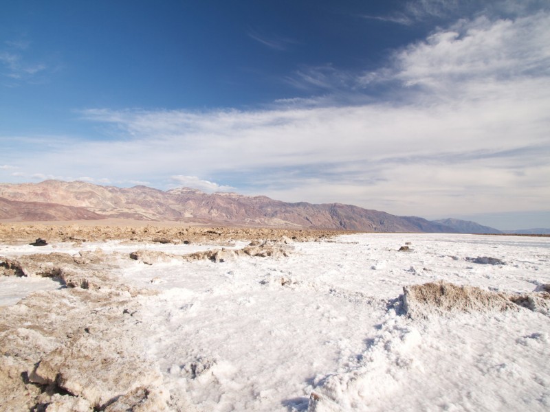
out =
[(0, 410), (544, 411), (549, 285), (550, 238), (3, 222)]

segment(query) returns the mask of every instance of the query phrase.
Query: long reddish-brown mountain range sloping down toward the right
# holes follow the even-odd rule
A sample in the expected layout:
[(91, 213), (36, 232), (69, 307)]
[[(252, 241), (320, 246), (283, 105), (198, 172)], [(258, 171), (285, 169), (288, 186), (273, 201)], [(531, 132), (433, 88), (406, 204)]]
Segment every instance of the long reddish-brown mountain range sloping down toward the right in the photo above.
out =
[(10, 211), (5, 214), (0, 211), (0, 219), (131, 218), (211, 225), (316, 227), (381, 232), (454, 231), (448, 226), (423, 218), (394, 216), (353, 205), (286, 203), (266, 196), (206, 194), (188, 188), (164, 192), (146, 186), (120, 188), (79, 181), (43, 181), (19, 185), (2, 183), (0, 197), (6, 202), (12, 202), (9, 203)]

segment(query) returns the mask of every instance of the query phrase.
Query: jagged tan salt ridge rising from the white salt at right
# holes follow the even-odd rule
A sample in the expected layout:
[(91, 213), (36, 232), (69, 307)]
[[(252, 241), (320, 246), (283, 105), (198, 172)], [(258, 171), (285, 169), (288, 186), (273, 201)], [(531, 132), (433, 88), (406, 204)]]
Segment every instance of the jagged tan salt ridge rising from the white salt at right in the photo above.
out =
[(517, 310), (503, 295), (474, 286), (457, 286), (447, 282), (405, 286), (401, 308), (412, 318), (450, 312), (488, 312)]

